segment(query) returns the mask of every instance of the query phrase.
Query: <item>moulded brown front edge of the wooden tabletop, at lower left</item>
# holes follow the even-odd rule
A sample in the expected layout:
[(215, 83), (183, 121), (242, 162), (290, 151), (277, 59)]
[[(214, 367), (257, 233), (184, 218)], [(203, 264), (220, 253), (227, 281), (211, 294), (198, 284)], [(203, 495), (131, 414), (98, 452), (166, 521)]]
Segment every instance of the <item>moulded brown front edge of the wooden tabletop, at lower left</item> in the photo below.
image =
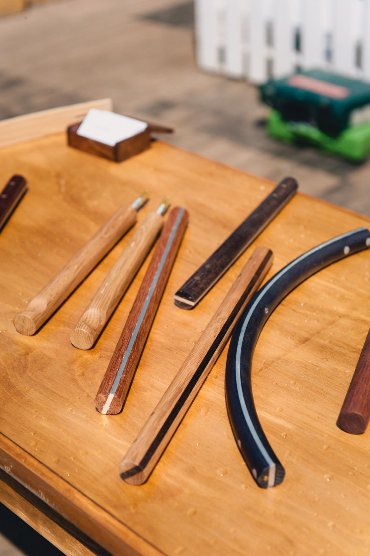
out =
[(1, 433), (0, 468), (113, 556), (163, 556), (147, 540)]

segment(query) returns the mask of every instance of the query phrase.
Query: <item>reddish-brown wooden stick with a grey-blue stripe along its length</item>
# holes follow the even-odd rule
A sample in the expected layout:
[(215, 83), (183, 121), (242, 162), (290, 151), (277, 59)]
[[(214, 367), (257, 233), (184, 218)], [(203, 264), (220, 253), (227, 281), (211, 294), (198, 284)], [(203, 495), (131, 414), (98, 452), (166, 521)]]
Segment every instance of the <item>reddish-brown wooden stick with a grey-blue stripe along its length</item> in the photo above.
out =
[(188, 211), (182, 207), (171, 210), (96, 395), (95, 407), (100, 413), (113, 415), (124, 405), (187, 222)]

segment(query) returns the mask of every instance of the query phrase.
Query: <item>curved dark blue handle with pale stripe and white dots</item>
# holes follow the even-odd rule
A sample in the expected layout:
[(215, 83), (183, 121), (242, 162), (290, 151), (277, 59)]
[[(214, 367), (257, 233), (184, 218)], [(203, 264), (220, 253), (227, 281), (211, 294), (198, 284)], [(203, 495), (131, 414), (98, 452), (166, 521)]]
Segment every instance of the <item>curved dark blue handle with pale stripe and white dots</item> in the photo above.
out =
[(367, 247), (370, 232), (359, 228), (300, 255), (254, 295), (235, 327), (226, 362), (226, 405), (241, 455), (261, 488), (280, 484), (285, 470), (264, 434), (254, 405), (251, 366), (256, 341), (275, 307), (296, 286), (325, 266)]

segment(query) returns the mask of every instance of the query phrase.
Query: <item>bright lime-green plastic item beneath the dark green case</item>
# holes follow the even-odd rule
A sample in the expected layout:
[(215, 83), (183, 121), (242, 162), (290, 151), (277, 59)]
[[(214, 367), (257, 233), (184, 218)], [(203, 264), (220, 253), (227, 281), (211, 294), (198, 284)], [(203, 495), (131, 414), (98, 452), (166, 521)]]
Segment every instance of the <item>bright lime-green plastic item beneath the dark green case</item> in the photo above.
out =
[(337, 137), (329, 137), (317, 127), (304, 122), (286, 122), (277, 110), (269, 113), (268, 133), (288, 143), (313, 145), (355, 162), (362, 162), (370, 153), (370, 123), (349, 127)]

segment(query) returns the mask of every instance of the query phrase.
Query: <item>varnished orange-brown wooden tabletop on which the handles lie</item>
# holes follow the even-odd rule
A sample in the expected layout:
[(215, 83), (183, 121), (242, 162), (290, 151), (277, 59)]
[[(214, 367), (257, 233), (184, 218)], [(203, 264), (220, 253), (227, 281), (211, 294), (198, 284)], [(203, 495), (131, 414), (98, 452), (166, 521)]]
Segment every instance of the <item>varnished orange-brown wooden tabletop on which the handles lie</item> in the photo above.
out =
[[(29, 182), (0, 235), (2, 466), (112, 554), (368, 554), (370, 431), (347, 435), (336, 420), (369, 327), (369, 252), (299, 286), (258, 341), (255, 401), (285, 466), (282, 485), (260, 490), (236, 448), (226, 349), (149, 481), (124, 483), (118, 465), (256, 245), (274, 251), (269, 277), (369, 219), (298, 195), (199, 306), (184, 311), (174, 292), (272, 183), (161, 142), (117, 164), (68, 148), (64, 134), (3, 148), (0, 163), (3, 181), (19, 172)], [(189, 210), (190, 224), (125, 410), (105, 416), (93, 399), (147, 261), (94, 349), (75, 349), (69, 335), (134, 230), (37, 335), (18, 335), (12, 319), (143, 186), (151, 201), (139, 221), (170, 195)]]

